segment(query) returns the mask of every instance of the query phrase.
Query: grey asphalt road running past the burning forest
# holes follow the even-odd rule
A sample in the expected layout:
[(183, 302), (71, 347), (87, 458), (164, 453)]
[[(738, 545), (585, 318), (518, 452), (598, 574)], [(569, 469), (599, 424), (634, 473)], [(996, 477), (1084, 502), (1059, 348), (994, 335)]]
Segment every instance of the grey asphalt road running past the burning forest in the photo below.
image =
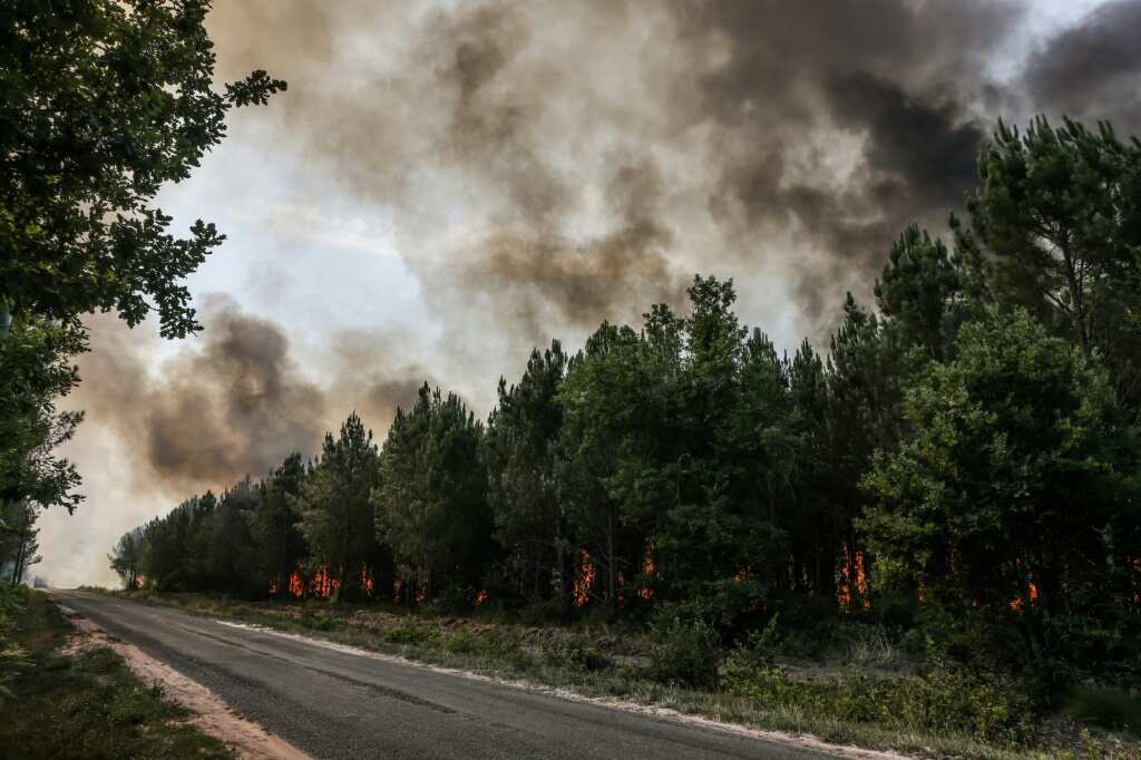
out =
[(316, 758), (819, 758), (173, 609), (54, 596)]

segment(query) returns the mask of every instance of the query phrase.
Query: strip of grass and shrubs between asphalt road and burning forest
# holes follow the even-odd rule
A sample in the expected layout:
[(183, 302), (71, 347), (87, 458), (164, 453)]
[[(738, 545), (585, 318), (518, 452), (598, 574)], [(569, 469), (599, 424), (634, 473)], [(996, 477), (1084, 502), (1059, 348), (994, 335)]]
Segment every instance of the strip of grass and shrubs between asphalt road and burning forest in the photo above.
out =
[(709, 630), (680, 623), (666, 630), (598, 621), (536, 625), (493, 611), (455, 615), (386, 603), (88, 590), (839, 744), (921, 757), (1141, 757), (1141, 742), (1120, 730), (1112, 711), (1090, 720), (1075, 705), (1042, 715), (997, 674), (925, 665), (881, 622), (835, 617), (799, 640), (779, 632), (777, 622), (726, 648)]

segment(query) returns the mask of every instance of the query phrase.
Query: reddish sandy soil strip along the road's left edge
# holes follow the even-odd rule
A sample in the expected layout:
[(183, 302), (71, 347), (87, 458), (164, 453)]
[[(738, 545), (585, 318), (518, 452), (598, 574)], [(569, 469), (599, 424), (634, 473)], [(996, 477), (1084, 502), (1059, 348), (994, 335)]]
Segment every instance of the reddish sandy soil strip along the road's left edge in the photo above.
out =
[(91, 647), (114, 649), (139, 679), (148, 685), (157, 684), (165, 698), (186, 708), (193, 714), (188, 721), (191, 725), (225, 742), (240, 758), (306, 760), (309, 757), (280, 736), (274, 736), (236, 714), (197, 681), (186, 678), (138, 647), (110, 636), (75, 611), (64, 605), (58, 606), (76, 628), (76, 634), (63, 648), (64, 654), (75, 655)]

